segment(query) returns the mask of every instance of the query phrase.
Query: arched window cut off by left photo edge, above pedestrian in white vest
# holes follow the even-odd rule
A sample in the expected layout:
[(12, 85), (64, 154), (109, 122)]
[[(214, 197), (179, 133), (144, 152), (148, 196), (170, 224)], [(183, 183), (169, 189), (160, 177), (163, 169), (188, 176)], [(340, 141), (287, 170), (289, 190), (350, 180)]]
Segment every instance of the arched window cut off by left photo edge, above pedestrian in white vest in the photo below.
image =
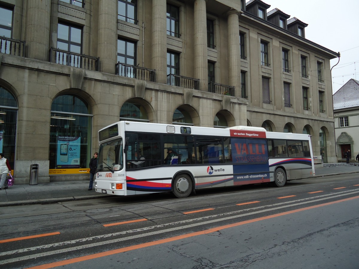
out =
[(16, 119), (18, 104), (15, 97), (0, 86), (0, 152), (9, 160), (11, 169), (14, 169)]

